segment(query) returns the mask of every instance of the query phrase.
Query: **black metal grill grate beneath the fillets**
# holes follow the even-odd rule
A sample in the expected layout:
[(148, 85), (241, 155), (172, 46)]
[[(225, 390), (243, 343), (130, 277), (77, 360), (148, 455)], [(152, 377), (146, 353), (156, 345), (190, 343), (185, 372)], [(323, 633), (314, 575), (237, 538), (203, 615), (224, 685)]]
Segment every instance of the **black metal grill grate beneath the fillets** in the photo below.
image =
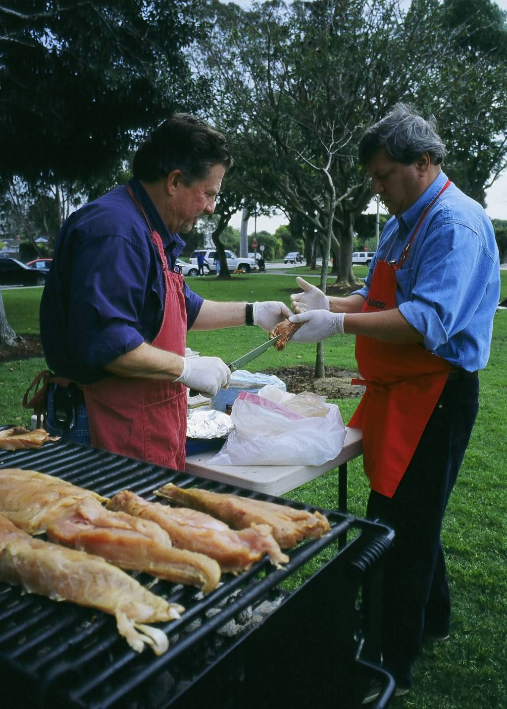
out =
[[(46, 444), (35, 451), (0, 452), (0, 467), (59, 476), (108, 497), (130, 489), (153, 500), (152, 491), (171, 481), (178, 486), (198, 484), (214, 491), (287, 503), (79, 445)], [(176, 702), (258, 627), (258, 618), (256, 623), (238, 622), (241, 613), (255, 615), (264, 602), (271, 604), (268, 608), (283, 605), (291, 593), (283, 591), (280, 584), (326, 547), (337, 546), (338, 537), (343, 539), (348, 532), (355, 535), (338, 556), (350, 557), (349, 549), (355, 548), (352, 566), (357, 574), (382, 557), (391, 540), (387, 528), (332, 510), (322, 511), (329, 518), (331, 532), (290, 552), (290, 562), (283, 569), (263, 560), (241, 576), (222, 575), (222, 586), (207, 596), (195, 588), (139, 574), (137, 579), (154, 593), (186, 608), (181, 620), (159, 625), (169, 637), (169, 650), (161, 657), (155, 657), (150, 649), (142, 654), (133, 652), (108, 615), (23, 595), (20, 588), (0, 584), (0, 698), (6, 693), (2, 705), (9, 707), (11, 700), (12, 706), (20, 706), (20, 693), (30, 696), (33, 707), (106, 709), (121, 705), (123, 709), (142, 709)], [(239, 628), (236, 635), (224, 632), (231, 621)], [(352, 627), (351, 633), (357, 630)]]

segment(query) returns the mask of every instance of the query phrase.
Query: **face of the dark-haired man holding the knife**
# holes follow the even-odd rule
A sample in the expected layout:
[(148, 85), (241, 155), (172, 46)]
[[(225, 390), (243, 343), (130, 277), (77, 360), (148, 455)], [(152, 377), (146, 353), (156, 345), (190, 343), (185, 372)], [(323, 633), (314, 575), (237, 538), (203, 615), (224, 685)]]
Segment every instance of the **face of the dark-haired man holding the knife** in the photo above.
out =
[(169, 201), (167, 219), (167, 225), (173, 233), (188, 233), (198, 217), (215, 211), (215, 197), (220, 191), (224, 174), (223, 165), (213, 165), (204, 179), (190, 186), (187, 186), (181, 177), (178, 179)]

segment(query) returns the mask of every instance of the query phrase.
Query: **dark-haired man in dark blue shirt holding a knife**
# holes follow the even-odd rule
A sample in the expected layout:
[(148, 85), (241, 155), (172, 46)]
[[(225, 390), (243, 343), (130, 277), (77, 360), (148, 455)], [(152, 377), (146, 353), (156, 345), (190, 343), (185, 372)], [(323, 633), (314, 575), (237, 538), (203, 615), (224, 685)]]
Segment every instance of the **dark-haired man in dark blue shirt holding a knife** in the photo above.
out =
[(175, 271), (179, 234), (213, 213), (231, 164), (221, 133), (176, 113), (137, 150), (129, 184), (64, 223), (40, 307), (56, 375), (48, 430), (183, 469), (186, 387), (215, 396), (230, 377), (219, 357), (184, 356), (187, 330), (270, 330), (290, 315), (275, 301), (207, 301)]

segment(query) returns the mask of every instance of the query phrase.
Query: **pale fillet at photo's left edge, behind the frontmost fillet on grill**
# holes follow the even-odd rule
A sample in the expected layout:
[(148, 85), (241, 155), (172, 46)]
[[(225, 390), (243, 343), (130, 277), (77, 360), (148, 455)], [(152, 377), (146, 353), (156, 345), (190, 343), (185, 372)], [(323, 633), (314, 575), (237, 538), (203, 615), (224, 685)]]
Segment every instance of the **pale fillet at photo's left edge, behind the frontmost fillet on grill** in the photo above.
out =
[(107, 501), (52, 475), (20, 468), (0, 469), (0, 515), (29, 534), (42, 534), (59, 514), (85, 499)]

